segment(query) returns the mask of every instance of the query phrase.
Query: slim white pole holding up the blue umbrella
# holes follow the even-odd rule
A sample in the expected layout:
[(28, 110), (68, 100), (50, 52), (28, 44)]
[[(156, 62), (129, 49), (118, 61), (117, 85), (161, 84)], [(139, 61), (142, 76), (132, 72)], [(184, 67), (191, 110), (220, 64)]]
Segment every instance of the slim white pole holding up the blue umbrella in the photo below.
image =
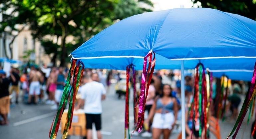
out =
[(184, 77), (184, 60), (181, 61), (181, 113), (182, 113), (182, 139), (185, 135), (185, 77)]

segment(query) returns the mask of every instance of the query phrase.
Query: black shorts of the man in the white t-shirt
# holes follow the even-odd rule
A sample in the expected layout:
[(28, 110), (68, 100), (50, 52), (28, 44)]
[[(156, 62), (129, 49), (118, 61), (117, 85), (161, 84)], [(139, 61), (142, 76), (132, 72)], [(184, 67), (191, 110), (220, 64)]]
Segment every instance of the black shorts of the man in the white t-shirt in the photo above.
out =
[(101, 114), (85, 114), (86, 129), (92, 129), (92, 123), (95, 123), (96, 130), (101, 129)]

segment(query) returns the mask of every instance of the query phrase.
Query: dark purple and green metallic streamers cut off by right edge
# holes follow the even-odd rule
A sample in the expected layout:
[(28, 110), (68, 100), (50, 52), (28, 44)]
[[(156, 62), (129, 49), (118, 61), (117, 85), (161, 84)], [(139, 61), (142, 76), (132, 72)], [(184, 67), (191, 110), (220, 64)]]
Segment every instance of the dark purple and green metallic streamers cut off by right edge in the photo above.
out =
[[(255, 72), (256, 72), (256, 63), (254, 65), (254, 70), (253, 70), (253, 76), (252, 76), (250, 90), (249, 90), (249, 92), (247, 92), (246, 98), (244, 100), (242, 109), (241, 109), (241, 111), (240, 111), (240, 113), (238, 115), (238, 118), (236, 120), (236, 123), (235, 123), (232, 131), (227, 136), (227, 138), (229, 138), (234, 133), (235, 130), (236, 130), (236, 132), (234, 133), (232, 138), (234, 139), (236, 137), (237, 132), (238, 132), (238, 130), (239, 130), (241, 124), (242, 124), (242, 121), (244, 119), (244, 116), (246, 115), (246, 112), (248, 110), (250, 102), (252, 101), (252, 98), (255, 97), (255, 79), (256, 79), (256, 73)], [(254, 133), (254, 131), (253, 131), (253, 133)]]

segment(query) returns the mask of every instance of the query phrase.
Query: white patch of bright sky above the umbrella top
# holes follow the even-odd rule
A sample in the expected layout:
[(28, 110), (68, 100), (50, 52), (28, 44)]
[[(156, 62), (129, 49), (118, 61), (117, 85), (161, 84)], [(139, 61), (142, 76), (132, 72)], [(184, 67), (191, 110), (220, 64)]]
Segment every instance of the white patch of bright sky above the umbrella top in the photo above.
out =
[(191, 8), (191, 0), (151, 0), (154, 3), (153, 11), (167, 10), (173, 8)]

